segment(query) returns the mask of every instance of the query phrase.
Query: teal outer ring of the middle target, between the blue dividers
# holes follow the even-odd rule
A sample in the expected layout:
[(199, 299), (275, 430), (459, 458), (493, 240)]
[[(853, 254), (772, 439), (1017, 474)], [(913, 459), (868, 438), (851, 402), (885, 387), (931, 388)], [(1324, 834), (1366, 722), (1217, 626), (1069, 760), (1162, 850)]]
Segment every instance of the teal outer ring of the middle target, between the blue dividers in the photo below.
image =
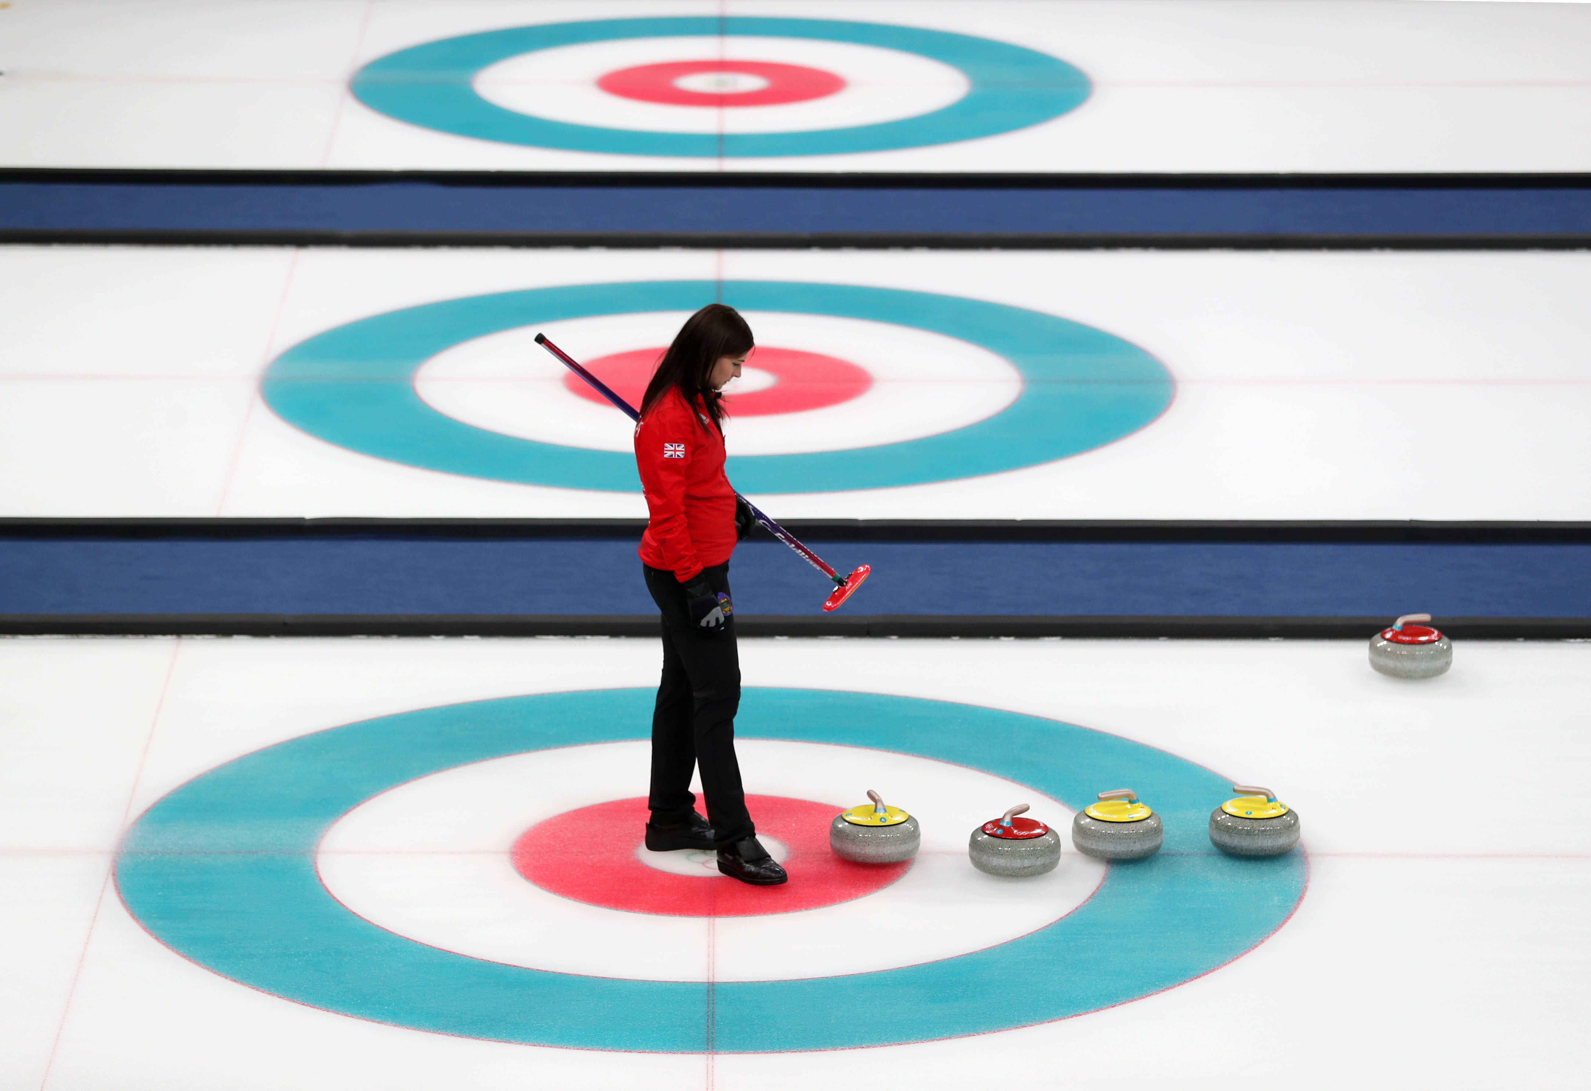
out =
[(361, 318), (299, 342), (266, 371), (266, 402), (339, 447), (407, 466), (555, 488), (635, 493), (627, 452), (541, 444), (444, 417), (414, 390), (420, 366), (460, 342), (566, 318), (695, 310), (721, 297), (741, 310), (866, 318), (982, 345), (1021, 372), (999, 413), (966, 428), (878, 447), (732, 455), (743, 493), (819, 493), (998, 474), (1101, 447), (1149, 425), (1174, 383), (1142, 348), (1104, 331), (961, 296), (800, 281), (657, 280), (469, 296)]

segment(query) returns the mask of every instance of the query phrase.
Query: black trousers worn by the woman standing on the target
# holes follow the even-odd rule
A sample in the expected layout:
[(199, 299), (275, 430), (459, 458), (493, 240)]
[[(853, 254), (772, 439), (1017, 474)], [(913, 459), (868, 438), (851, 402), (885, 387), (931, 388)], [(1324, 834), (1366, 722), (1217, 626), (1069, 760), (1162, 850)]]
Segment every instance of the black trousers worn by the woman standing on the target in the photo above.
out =
[[(746, 811), (735, 759), (740, 709), (740, 650), (735, 619), (711, 633), (690, 622), (686, 590), (675, 574), (643, 565), (646, 590), (663, 614), (663, 678), (652, 709), (652, 789), (648, 805), (657, 822), (678, 822), (695, 806), (690, 771), (702, 770), (706, 821), (719, 846), (756, 833)], [(729, 565), (702, 569), (714, 592), (729, 590)]]

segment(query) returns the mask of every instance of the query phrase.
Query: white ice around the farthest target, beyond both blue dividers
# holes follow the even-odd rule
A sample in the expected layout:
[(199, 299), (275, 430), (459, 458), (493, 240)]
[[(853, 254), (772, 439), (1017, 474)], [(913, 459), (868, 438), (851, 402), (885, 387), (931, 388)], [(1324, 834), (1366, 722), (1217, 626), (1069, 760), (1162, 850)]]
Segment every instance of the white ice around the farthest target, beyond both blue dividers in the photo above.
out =
[[(725, 13), (912, 24), (996, 38), (1068, 60), (1088, 75), (1093, 94), (1083, 107), (1045, 124), (959, 145), (718, 164), (453, 137), (374, 113), (347, 92), (352, 73), (369, 60), (438, 38), (571, 19)], [(670, 59), (663, 57), (667, 46), (659, 49), (659, 59)], [(800, 60), (843, 70), (840, 52), (802, 43)], [(905, 172), (1591, 167), (1591, 10), (1573, 3), (54, 0), (0, 11), (0, 162), (6, 165)], [(568, 73), (558, 68), (555, 75)], [(889, 91), (899, 105), (888, 100)], [(913, 89), (907, 76), (869, 94), (873, 97), (846, 108), (850, 118), (870, 118), (880, 108), (885, 115), (928, 110), (934, 99)], [(606, 99), (611, 95), (584, 105), (587, 122), (624, 116), (624, 102)], [(837, 110), (843, 105), (840, 99), (834, 103)], [(582, 107), (560, 99), (558, 108)], [(654, 124), (657, 110), (663, 108), (635, 103), (633, 124)], [(821, 102), (767, 110), (789, 113), (784, 122), (765, 122), (772, 127), (838, 122)]]

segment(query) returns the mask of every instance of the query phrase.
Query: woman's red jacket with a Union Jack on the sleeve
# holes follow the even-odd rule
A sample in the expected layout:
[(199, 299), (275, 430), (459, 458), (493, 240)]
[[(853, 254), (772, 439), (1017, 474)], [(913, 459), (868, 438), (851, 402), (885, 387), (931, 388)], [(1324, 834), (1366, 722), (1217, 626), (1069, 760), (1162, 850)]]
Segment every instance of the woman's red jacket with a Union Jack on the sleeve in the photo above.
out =
[(684, 584), (735, 552), (735, 490), (724, 476), (724, 433), (700, 396), (678, 386), (635, 426), (635, 464), (651, 515), (641, 563), (670, 569)]

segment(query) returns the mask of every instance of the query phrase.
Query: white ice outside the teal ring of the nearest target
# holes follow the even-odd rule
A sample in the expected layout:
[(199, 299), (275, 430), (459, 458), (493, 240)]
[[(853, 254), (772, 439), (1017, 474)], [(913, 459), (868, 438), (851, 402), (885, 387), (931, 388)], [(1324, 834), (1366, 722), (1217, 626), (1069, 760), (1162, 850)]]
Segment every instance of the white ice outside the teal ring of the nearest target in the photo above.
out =
[[(1263, 781), (1303, 816), (1309, 891), (1274, 937), (1204, 978), (994, 1035), (705, 1059), (377, 1026), (215, 976), (150, 938), (115, 894), (100, 902), (121, 814), (251, 749), (355, 719), (648, 685), (655, 644), (8, 639), (0, 1085), (40, 1086), (46, 1064), (46, 1091), (1217, 1089), (1239, 1070), (1322, 1091), (1575, 1081), (1591, 835), (1583, 822), (1543, 822), (1521, 851), (1516, 811), (1550, 800), (1578, 814), (1591, 803), (1591, 646), (1461, 643), (1453, 671), (1419, 684), (1375, 674), (1357, 641), (768, 639), (743, 641), (741, 657), (751, 685), (823, 679), (990, 705)], [(115, 776), (80, 784), (102, 754), (132, 757)], [(757, 778), (748, 767), (751, 790)], [(27, 782), (60, 790), (24, 797), (16, 786)], [(62, 840), (53, 829), (80, 833)], [(1263, 1032), (1255, 1011), (1268, 1013)]]

